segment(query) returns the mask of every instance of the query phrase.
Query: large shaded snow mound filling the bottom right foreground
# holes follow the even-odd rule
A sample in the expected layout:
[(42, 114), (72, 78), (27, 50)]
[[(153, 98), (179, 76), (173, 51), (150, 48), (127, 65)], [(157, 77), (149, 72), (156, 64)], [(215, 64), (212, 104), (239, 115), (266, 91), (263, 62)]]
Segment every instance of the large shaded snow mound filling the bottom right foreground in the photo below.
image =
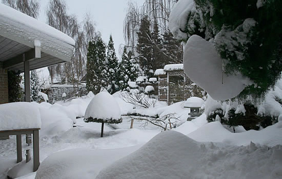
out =
[(96, 179), (278, 179), (282, 177), (281, 153), (281, 145), (199, 143), (182, 133), (164, 131), (142, 148), (101, 170)]

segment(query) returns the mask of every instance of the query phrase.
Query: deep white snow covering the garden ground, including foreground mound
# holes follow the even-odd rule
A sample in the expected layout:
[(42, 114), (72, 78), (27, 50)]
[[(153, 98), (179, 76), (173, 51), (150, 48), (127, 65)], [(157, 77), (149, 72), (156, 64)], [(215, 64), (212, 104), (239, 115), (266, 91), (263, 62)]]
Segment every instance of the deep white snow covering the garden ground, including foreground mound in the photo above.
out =
[[(113, 96), (123, 115), (132, 111), (160, 117), (176, 113), (179, 121), (172, 129), (175, 131), (162, 132), (151, 124), (144, 127), (143, 122), (136, 120), (130, 129), (131, 118), (123, 116), (120, 124), (106, 124), (104, 138), (100, 138), (101, 124), (85, 123), (82, 118), (93, 95), (54, 105), (31, 103), (39, 109), (42, 119), (41, 166), (37, 173), (26, 169), (28, 174), (19, 178), (35, 178), (36, 174), (36, 178), (95, 178), (101, 170), (100, 178), (144, 178), (149, 174), (151, 178), (282, 177), (278, 169), (282, 165), (282, 149), (277, 146), (282, 144), (282, 121), (260, 131), (232, 133), (219, 122), (207, 123), (205, 114), (186, 121), (190, 110), (184, 108), (184, 101), (170, 106), (157, 102), (154, 108), (133, 109), (135, 106), (118, 94)], [(162, 135), (158, 135), (160, 132)], [(24, 135), (22, 143), (23, 153), (26, 149), (32, 152)], [(10, 136), (9, 140), (0, 141), (0, 178), (6, 178), (15, 162), (15, 136)]]

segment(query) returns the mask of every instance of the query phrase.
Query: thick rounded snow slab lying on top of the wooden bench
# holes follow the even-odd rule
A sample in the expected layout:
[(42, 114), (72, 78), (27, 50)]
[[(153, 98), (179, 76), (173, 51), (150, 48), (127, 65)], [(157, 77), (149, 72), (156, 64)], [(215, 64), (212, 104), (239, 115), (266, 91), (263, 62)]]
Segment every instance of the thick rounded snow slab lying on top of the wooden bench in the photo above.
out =
[(41, 127), (39, 109), (29, 102), (0, 105), (0, 130), (31, 129)]

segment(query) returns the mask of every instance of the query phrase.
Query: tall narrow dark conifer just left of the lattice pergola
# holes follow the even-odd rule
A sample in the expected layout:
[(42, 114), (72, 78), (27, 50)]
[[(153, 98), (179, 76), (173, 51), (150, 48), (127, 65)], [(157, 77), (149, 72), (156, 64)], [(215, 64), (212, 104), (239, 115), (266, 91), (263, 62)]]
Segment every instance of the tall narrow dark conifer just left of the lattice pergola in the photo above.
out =
[(150, 31), (150, 21), (148, 16), (145, 15), (141, 19), (139, 32), (137, 32), (137, 53), (140, 68), (143, 70), (143, 75), (152, 77), (154, 75), (153, 66), (153, 49), (152, 49), (152, 37)]

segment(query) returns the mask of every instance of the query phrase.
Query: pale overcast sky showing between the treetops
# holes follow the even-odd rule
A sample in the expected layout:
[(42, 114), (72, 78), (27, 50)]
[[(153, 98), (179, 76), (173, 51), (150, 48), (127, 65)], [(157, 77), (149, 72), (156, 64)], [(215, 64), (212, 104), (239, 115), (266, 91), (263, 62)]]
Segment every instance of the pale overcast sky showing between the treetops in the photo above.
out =
[[(39, 20), (46, 23), (45, 10), (49, 0), (39, 0), (41, 13)], [(110, 34), (113, 36), (115, 51), (118, 54), (119, 45), (124, 43), (123, 21), (129, 0), (65, 0), (68, 13), (75, 14), (81, 22), (87, 12), (90, 12), (96, 28), (101, 32), (103, 40), (108, 43)], [(145, 0), (132, 0), (142, 5)], [(119, 55), (117, 55), (119, 56)]]

